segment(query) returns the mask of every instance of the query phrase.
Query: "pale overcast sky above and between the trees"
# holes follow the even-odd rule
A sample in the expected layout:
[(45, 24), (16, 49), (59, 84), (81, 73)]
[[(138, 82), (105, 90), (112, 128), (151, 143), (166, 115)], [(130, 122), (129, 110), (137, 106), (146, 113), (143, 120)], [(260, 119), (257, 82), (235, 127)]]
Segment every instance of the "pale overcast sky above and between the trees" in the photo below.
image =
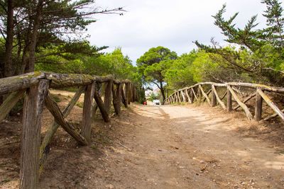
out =
[(121, 47), (133, 64), (149, 48), (159, 45), (181, 55), (196, 48), (194, 40), (209, 44), (214, 37), (224, 44), (212, 15), (225, 3), (226, 16), (239, 11), (239, 27), (256, 14), (258, 22), (264, 24), (261, 0), (97, 0), (97, 6), (122, 6), (127, 12), (124, 16), (97, 15), (97, 22), (89, 25), (87, 33), (92, 45), (109, 46), (106, 52)]

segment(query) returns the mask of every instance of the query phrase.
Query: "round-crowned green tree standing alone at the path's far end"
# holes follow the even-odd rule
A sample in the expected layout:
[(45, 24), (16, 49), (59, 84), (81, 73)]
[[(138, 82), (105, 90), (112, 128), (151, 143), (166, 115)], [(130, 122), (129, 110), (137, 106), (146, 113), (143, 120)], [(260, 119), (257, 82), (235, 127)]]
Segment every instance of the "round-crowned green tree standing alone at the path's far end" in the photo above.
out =
[(153, 47), (137, 59), (138, 71), (143, 81), (155, 84), (165, 100), (165, 71), (170, 67), (170, 61), (178, 55), (166, 47)]

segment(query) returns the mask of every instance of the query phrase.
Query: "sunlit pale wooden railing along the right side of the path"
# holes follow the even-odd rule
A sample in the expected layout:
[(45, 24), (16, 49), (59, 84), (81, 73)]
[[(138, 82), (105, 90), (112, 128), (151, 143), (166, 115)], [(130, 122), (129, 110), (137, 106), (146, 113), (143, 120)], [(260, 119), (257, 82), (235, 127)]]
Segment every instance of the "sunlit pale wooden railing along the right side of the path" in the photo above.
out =
[[(204, 90), (205, 87), (208, 91)], [(243, 97), (243, 99), (241, 99), (239, 95), (241, 93), (239, 88), (246, 88), (246, 94), (249, 92), (249, 96)], [(218, 93), (217, 91), (223, 91), (224, 94), (222, 96), (219, 96), (220, 92)], [(204, 82), (175, 91), (165, 100), (164, 103), (165, 105), (169, 105), (171, 103), (194, 103), (195, 101), (207, 101), (209, 105), (212, 106), (216, 106), (217, 103), (219, 103), (219, 105), (221, 105), (224, 110), (228, 111), (242, 108), (249, 120), (253, 120), (253, 118), (256, 121), (271, 120), (272, 118), (276, 118), (277, 116), (284, 120), (284, 109), (280, 110), (280, 108), (278, 108), (278, 105), (275, 105), (275, 103), (273, 103), (273, 101), (267, 94), (268, 92), (284, 93), (284, 88), (250, 83), (217, 84), (213, 82)], [(211, 95), (209, 95), (210, 93)], [(232, 98), (234, 98), (234, 101), (236, 101), (236, 106), (234, 108)], [(248, 105), (246, 105), (246, 103), (251, 101), (251, 99), (253, 98), (255, 99), (254, 116), (253, 113), (251, 113)], [(273, 115), (268, 115), (266, 118), (262, 118), (263, 100), (274, 111)]]

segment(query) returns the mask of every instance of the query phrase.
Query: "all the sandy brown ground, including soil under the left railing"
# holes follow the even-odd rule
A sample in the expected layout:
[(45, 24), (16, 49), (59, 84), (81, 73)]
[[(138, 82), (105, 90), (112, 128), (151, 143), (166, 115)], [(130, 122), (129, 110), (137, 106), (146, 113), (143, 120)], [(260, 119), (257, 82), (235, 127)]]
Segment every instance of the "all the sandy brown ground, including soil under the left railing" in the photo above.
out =
[[(283, 127), (266, 126), (207, 105), (133, 104), (98, 117), (89, 147), (59, 130), (40, 188), (284, 188)], [(17, 145), (1, 147), (0, 188), (18, 186)]]

